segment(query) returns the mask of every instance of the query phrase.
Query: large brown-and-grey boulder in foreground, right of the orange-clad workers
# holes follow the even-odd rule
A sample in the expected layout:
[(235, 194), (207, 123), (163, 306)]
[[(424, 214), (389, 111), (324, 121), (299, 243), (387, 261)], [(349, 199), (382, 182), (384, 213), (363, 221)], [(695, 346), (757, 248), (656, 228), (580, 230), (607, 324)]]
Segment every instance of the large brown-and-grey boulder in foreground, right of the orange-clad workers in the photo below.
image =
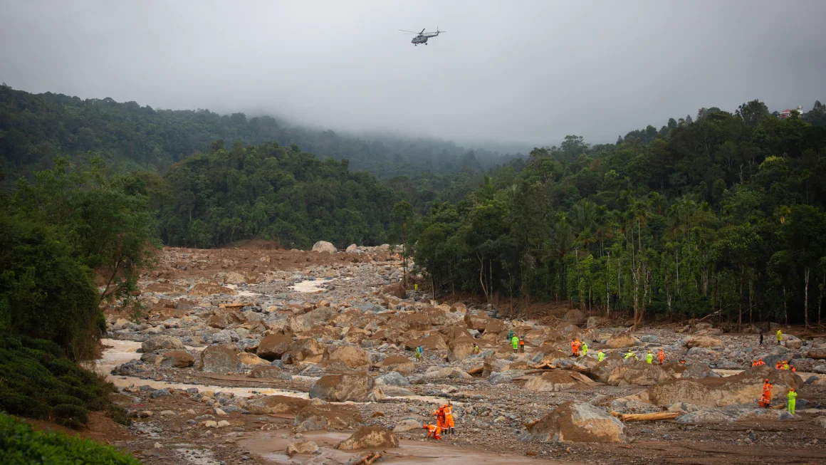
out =
[(568, 401), (534, 423), (526, 439), (545, 442), (614, 443), (628, 442), (625, 425), (599, 407)]

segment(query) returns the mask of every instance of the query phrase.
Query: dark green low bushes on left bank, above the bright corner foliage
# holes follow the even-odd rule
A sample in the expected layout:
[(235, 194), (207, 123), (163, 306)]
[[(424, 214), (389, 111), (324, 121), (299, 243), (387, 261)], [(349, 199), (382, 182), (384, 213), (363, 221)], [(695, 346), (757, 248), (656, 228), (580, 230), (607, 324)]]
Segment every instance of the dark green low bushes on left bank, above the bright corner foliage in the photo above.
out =
[(126, 424), (126, 411), (113, 406), (112, 384), (79, 368), (59, 345), (44, 339), (0, 335), (0, 411), (81, 429), (89, 410), (105, 410)]

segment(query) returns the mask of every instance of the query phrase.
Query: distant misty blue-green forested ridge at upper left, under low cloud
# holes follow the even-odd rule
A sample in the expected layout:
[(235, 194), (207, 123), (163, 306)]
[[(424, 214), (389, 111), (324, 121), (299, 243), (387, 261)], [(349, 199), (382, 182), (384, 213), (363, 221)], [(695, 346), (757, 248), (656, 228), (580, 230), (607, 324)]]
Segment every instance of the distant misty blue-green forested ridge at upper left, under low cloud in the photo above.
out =
[(342, 136), (332, 130), (285, 126), (271, 116), (161, 110), (112, 98), (83, 100), (0, 86), (0, 170), (7, 174), (7, 189), (21, 175), (51, 168), (56, 155), (78, 161), (92, 151), (121, 170), (164, 173), (170, 164), (207, 150), (213, 140), (296, 144), (321, 159), (349, 159), (351, 170), (366, 170), (379, 178), (455, 174), (515, 157), (468, 150), (449, 141)]

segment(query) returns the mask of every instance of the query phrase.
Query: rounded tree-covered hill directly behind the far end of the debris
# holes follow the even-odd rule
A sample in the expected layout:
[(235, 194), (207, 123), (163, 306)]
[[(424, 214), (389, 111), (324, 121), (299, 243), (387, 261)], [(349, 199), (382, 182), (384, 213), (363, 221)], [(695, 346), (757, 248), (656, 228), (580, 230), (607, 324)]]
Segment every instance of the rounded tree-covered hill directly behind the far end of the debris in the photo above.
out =
[[(396, 192), (347, 160), (320, 161), (295, 146), (213, 145), (174, 164), (159, 185), (160, 236), (167, 244), (212, 247), (250, 237), (307, 248), (382, 244)], [(165, 197), (164, 197), (165, 196)]]

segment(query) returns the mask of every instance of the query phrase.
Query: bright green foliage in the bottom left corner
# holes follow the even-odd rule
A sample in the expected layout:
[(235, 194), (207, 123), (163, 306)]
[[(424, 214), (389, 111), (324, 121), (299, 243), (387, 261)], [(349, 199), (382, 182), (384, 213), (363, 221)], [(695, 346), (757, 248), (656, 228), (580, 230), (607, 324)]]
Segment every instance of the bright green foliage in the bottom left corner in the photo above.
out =
[(3, 465), (140, 465), (111, 446), (63, 433), (33, 429), (21, 420), (0, 413), (0, 463)]

